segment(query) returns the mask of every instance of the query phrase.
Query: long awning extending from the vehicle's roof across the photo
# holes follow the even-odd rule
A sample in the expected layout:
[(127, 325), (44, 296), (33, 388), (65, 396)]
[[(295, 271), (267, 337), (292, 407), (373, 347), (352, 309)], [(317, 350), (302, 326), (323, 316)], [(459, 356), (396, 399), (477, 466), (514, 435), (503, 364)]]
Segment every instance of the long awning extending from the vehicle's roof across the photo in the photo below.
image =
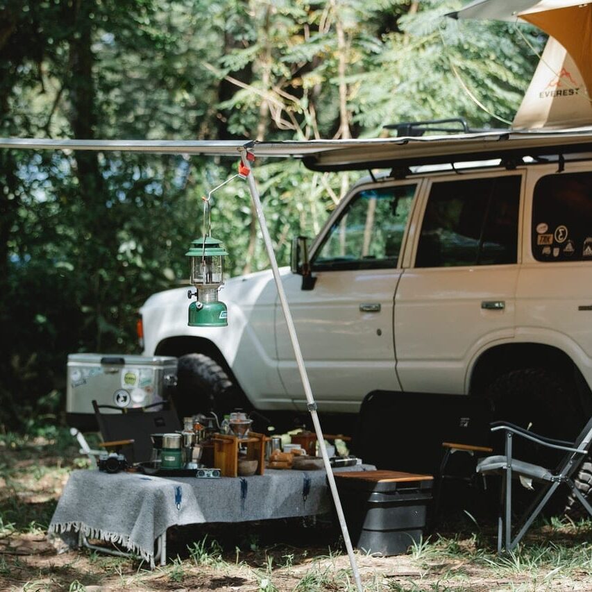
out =
[(366, 170), (592, 151), (592, 127), (496, 130), (423, 137), (254, 142), (244, 140), (80, 140), (0, 138), (0, 148), (298, 158), (314, 171)]

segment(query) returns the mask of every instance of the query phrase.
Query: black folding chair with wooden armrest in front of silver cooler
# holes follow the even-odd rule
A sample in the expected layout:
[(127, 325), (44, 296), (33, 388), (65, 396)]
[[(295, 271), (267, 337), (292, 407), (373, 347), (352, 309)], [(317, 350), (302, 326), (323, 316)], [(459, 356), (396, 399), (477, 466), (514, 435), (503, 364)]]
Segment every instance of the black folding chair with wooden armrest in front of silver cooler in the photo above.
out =
[[(170, 401), (153, 403), (146, 407), (121, 409), (114, 405), (98, 405), (92, 401), (96, 423), (99, 424), (105, 448), (121, 448), (128, 463), (151, 459), (150, 434), (177, 432), (181, 429), (177, 412)], [(101, 413), (101, 409), (116, 409), (119, 413)], [(153, 410), (151, 410), (153, 409)]]

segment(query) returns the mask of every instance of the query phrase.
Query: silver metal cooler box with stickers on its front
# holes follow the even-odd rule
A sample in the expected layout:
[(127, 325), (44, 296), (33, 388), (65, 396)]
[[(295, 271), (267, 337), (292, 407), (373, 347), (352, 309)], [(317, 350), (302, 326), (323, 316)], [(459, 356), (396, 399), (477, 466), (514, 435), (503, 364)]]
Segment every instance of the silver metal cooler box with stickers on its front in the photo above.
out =
[[(96, 430), (92, 400), (99, 405), (145, 407), (168, 398), (177, 383), (177, 358), (74, 353), (68, 355), (66, 419), (78, 430)], [(105, 409), (105, 413), (117, 413)]]

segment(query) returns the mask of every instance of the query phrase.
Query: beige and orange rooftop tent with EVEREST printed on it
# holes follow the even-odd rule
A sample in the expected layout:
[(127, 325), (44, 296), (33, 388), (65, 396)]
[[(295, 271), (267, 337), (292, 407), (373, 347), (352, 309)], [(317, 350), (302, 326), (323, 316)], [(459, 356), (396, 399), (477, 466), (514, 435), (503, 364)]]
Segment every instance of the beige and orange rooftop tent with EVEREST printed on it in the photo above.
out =
[(573, 0), (476, 0), (448, 16), (528, 22), (550, 35), (514, 127), (592, 122), (592, 3)]

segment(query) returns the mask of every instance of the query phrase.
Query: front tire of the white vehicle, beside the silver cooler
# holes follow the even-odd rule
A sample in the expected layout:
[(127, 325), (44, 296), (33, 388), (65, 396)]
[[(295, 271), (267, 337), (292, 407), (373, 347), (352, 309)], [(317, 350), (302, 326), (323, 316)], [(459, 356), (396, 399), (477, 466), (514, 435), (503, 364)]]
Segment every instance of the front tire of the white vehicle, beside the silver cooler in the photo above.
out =
[(189, 353), (179, 358), (174, 403), (180, 417), (213, 411), (221, 421), (240, 400), (237, 387), (211, 357)]

